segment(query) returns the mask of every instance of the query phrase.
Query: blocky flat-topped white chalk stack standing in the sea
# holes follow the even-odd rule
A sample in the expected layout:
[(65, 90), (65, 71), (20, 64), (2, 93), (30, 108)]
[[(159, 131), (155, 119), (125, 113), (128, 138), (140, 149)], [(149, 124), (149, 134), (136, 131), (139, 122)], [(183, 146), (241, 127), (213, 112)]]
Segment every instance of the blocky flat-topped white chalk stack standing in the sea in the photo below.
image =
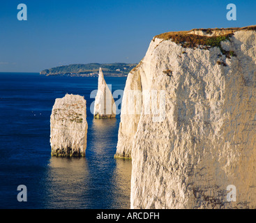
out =
[(50, 121), (52, 155), (85, 156), (88, 125), (84, 97), (66, 94), (57, 98)]

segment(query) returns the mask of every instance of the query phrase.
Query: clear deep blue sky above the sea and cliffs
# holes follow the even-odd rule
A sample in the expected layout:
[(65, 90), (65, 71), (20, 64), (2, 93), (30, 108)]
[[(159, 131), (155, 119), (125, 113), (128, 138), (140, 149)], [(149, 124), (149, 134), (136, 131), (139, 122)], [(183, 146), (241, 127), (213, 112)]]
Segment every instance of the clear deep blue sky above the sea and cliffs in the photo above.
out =
[[(17, 20), (26, 3), (28, 20)], [(227, 3), (237, 20), (226, 19)], [(40, 72), (71, 63), (138, 63), (153, 36), (256, 24), (256, 1), (1, 0), (0, 72)]]

